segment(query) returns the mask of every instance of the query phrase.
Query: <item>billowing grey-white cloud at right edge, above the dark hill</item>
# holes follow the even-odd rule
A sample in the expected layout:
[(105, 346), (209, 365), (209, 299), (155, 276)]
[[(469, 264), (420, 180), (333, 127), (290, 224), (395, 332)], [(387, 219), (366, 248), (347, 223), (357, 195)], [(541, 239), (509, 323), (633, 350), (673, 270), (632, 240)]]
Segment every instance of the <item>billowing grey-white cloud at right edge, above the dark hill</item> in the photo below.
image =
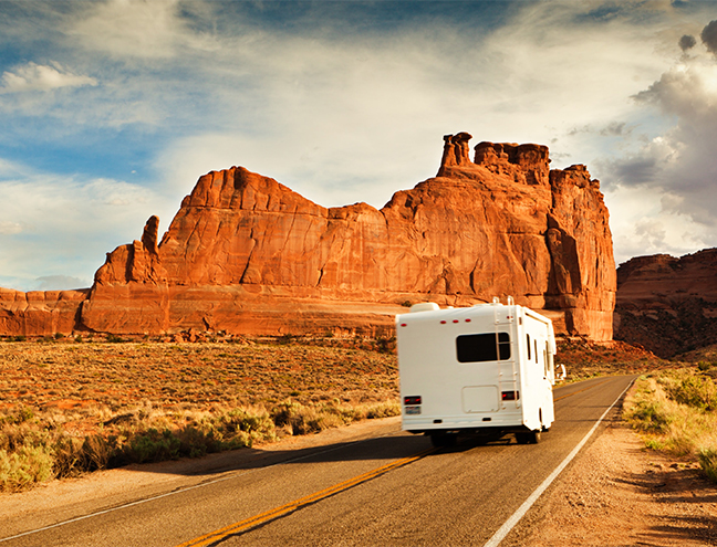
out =
[[(695, 51), (697, 48), (690, 50)], [(662, 212), (688, 227), (671, 233), (696, 251), (717, 244), (717, 61), (695, 51), (662, 74), (636, 98), (644, 108), (672, 122), (672, 127), (646, 141), (636, 152), (613, 160), (606, 169), (616, 185), (638, 188), (662, 198)], [(637, 206), (637, 210), (644, 206)], [(699, 236), (695, 236), (699, 233)]]

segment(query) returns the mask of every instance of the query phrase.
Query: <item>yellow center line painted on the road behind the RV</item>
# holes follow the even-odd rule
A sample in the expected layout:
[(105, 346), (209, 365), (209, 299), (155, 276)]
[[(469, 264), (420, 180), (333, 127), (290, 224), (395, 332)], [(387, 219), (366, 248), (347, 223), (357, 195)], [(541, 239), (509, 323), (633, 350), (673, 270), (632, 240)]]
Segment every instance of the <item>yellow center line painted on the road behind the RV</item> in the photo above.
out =
[(209, 534), (205, 534), (204, 536), (199, 536), (195, 539), (190, 539), (189, 541), (185, 541), (183, 544), (177, 545), (177, 547), (205, 547), (207, 545), (211, 545), (212, 543), (224, 539), (227, 536), (246, 532), (249, 528), (253, 528), (254, 526), (259, 526), (260, 524), (287, 515), (305, 505), (316, 503), (329, 496), (337, 494), (339, 492), (349, 490), (352, 486), (364, 483), (366, 481), (371, 481), (372, 478), (375, 478), (378, 475), (382, 475), (395, 469), (407, 465), (412, 462), (415, 462), (416, 460), (420, 460), (422, 457), (435, 451), (436, 449), (428, 449), (428, 450), (424, 450), (423, 452), (418, 452), (417, 454), (414, 454), (412, 456), (404, 457), (403, 460), (396, 460), (395, 462), (387, 463), (373, 471), (363, 473), (362, 475), (354, 476), (353, 478), (349, 478), (347, 481), (341, 482), (339, 484), (334, 484), (333, 486), (329, 486), (328, 488), (321, 490), (319, 492), (314, 492), (313, 494), (309, 494), (308, 496), (300, 497), (299, 499), (294, 499), (293, 502), (289, 502), (288, 504), (284, 504), (280, 507), (274, 507), (273, 509), (264, 511), (263, 513), (260, 513), (252, 517), (245, 518), (243, 520), (239, 520), (238, 523), (230, 524), (229, 526), (225, 526), (224, 528), (219, 528), (215, 532), (210, 532)]

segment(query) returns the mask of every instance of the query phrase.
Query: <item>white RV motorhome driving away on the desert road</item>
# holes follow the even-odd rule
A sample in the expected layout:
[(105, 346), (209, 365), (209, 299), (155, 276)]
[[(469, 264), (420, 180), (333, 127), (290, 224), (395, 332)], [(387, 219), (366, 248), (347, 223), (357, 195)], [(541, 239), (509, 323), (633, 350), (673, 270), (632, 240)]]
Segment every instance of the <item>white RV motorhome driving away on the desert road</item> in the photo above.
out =
[[(516, 434), (537, 443), (554, 420), (552, 322), (523, 306), (440, 309), (415, 304), (396, 316), (402, 428), (434, 445), (459, 432)], [(486, 431), (484, 431), (486, 430)]]

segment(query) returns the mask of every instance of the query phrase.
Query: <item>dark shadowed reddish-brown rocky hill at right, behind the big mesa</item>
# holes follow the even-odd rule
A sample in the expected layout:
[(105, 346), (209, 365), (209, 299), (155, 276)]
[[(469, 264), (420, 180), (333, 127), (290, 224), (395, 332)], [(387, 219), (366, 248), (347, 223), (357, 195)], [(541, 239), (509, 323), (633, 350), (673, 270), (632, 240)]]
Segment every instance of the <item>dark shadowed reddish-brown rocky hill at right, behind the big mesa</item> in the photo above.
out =
[(621, 264), (615, 337), (661, 357), (717, 344), (717, 249)]

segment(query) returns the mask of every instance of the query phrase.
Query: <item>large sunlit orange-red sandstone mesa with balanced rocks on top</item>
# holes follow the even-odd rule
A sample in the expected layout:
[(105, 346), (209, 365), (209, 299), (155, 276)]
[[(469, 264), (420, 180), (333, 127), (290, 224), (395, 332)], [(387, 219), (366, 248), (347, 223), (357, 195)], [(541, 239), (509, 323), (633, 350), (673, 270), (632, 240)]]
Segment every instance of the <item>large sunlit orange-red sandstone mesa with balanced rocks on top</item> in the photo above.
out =
[(0, 334), (391, 335), (404, 303), (512, 295), (560, 330), (612, 338), (615, 264), (600, 183), (540, 145), (444, 137), (436, 177), (381, 210), (323, 208), (232, 167), (202, 176), (158, 241), (107, 254), (86, 291), (0, 290)]

